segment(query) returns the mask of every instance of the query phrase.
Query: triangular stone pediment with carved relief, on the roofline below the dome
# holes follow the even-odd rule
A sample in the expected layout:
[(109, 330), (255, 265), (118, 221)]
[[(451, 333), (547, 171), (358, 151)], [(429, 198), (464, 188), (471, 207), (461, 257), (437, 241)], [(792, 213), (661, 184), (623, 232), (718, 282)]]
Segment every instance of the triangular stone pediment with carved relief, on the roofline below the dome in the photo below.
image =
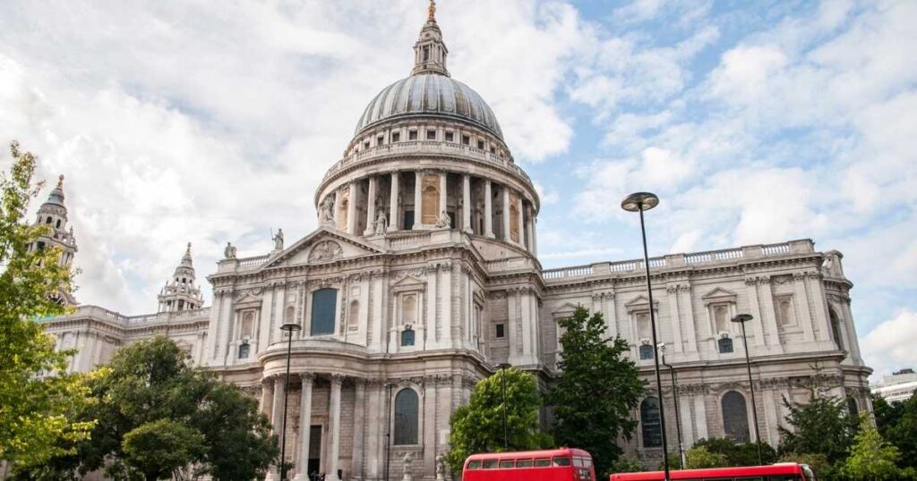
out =
[(381, 247), (374, 246), (356, 235), (344, 234), (336, 229), (322, 226), (312, 234), (296, 241), (292, 246), (271, 256), (264, 264), (264, 268), (327, 264), (341, 259), (372, 256), (384, 252)]

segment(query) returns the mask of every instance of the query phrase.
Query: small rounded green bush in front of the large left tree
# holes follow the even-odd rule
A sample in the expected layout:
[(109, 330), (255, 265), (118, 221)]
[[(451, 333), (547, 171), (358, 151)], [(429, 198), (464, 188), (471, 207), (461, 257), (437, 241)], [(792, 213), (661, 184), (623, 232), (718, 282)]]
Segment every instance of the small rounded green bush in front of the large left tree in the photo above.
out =
[(128, 432), (124, 461), (147, 481), (171, 479), (204, 454), (204, 434), (183, 422), (161, 419)]

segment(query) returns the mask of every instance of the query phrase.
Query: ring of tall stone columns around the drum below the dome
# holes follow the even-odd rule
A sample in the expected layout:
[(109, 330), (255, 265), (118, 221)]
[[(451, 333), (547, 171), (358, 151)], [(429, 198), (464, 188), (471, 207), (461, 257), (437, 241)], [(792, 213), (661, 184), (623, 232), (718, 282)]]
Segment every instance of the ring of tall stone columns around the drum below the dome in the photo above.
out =
[[(413, 224), (404, 225), (411, 218), (405, 212), (413, 213)], [(537, 254), (532, 202), (509, 185), (469, 173), (395, 170), (350, 180), (334, 192), (334, 215), (337, 228), (351, 235), (455, 227)]]

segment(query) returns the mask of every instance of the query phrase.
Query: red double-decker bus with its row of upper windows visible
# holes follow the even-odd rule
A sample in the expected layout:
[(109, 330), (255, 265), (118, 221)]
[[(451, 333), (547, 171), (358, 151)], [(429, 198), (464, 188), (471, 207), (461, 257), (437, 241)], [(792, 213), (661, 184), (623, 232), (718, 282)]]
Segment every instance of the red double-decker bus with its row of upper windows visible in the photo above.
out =
[(592, 456), (576, 448), (471, 454), (462, 481), (595, 481)]

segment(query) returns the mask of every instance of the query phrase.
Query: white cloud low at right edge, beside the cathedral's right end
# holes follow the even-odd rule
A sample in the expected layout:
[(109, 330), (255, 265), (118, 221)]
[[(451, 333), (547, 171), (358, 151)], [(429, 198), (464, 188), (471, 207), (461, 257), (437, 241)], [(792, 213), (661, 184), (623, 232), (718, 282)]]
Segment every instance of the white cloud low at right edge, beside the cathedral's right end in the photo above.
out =
[(873, 377), (881, 377), (900, 367), (917, 366), (915, 342), (917, 312), (904, 310), (864, 336), (860, 348), (867, 366), (873, 368)]

